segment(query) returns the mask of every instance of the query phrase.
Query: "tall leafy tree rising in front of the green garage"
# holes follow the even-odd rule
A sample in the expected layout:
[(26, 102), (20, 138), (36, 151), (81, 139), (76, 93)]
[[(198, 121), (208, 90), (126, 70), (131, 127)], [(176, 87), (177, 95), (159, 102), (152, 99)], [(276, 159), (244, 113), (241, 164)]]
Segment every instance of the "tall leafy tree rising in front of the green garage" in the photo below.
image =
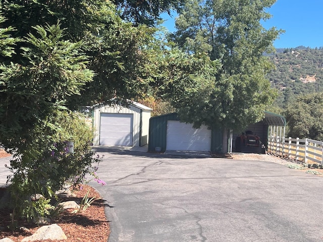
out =
[(207, 53), (211, 60), (219, 60), (222, 67), (210, 86), (174, 102), (182, 120), (196, 127), (204, 124), (226, 130), (243, 128), (263, 117), (265, 107), (275, 98), (275, 91), (265, 78), (273, 65), (263, 53), (273, 50), (273, 40), (281, 31), (265, 30), (260, 20), (270, 18), (265, 9), (274, 3), (274, 0), (184, 3), (171, 39), (188, 53)]

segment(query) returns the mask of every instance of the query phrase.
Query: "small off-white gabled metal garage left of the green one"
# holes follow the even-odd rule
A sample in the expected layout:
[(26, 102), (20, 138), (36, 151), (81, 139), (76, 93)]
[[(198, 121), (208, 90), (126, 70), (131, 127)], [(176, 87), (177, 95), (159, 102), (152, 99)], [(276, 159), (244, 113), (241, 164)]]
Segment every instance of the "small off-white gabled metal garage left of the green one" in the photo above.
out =
[(137, 102), (132, 102), (129, 106), (121, 106), (116, 103), (95, 105), (93, 107), (93, 145), (146, 145), (151, 110), (151, 108)]

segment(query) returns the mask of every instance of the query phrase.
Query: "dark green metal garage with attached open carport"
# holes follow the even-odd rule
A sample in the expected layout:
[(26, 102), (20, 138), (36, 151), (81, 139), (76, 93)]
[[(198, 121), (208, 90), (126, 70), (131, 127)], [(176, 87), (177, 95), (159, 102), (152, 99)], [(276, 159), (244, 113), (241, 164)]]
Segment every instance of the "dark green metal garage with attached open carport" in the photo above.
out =
[[(281, 136), (285, 136), (286, 119), (282, 115), (264, 111), (264, 118), (251, 124), (238, 132), (228, 131), (224, 134), (222, 128), (209, 130), (202, 126), (193, 129), (192, 124), (181, 123), (177, 113), (170, 113), (151, 117), (149, 120), (148, 151), (182, 150), (182, 151), (208, 151), (211, 153), (222, 152), (223, 137), (228, 137), (228, 152), (235, 151), (235, 140), (241, 133), (252, 131), (260, 137), (261, 142), (267, 146), (268, 129), (271, 131), (280, 129)], [(278, 128), (280, 127), (280, 128)], [(257, 149), (250, 148), (243, 152), (260, 153)], [(264, 152), (264, 149), (261, 150)]]

